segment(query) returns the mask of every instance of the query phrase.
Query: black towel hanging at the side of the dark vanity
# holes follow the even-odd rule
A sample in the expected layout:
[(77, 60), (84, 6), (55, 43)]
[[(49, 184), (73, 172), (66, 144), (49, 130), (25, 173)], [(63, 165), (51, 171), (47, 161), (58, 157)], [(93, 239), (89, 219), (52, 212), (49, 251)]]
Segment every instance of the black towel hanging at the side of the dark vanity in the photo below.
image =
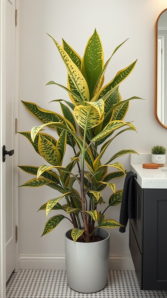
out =
[(121, 233), (125, 233), (128, 219), (133, 219), (133, 177), (137, 178), (137, 175), (132, 171), (128, 172), (125, 177), (119, 216), (119, 223), (123, 225), (119, 228)]

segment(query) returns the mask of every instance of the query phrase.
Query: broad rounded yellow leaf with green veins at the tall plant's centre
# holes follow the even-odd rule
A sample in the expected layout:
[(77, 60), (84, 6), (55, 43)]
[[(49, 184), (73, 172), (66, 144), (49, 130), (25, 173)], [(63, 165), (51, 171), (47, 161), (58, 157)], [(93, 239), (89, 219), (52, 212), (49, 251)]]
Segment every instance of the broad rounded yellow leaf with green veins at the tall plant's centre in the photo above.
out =
[(97, 126), (104, 119), (104, 102), (89, 103), (89, 106), (78, 105), (74, 108), (74, 117), (83, 129)]

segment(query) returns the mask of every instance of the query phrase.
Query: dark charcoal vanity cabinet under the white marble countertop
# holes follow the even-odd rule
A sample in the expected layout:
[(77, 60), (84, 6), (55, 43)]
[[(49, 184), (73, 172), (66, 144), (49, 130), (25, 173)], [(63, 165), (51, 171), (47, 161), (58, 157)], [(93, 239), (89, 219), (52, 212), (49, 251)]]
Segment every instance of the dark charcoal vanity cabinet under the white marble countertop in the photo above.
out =
[(141, 290), (167, 290), (167, 189), (142, 189), (134, 179), (129, 248)]

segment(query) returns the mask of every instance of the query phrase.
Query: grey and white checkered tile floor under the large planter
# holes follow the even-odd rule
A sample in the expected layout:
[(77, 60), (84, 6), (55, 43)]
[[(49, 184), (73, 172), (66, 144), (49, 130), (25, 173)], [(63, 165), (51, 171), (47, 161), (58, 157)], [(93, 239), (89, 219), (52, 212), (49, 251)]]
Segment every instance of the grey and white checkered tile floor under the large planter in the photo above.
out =
[(135, 271), (109, 271), (106, 287), (92, 294), (73, 291), (65, 270), (20, 270), (6, 285), (6, 298), (167, 298), (167, 291), (141, 291)]

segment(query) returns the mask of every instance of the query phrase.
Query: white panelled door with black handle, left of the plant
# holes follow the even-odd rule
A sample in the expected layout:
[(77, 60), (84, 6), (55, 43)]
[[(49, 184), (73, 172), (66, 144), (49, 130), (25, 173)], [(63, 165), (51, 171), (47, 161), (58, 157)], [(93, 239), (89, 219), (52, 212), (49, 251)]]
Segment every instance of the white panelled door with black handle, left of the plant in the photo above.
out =
[(15, 0), (6, 0), (6, 281), (15, 269)]

